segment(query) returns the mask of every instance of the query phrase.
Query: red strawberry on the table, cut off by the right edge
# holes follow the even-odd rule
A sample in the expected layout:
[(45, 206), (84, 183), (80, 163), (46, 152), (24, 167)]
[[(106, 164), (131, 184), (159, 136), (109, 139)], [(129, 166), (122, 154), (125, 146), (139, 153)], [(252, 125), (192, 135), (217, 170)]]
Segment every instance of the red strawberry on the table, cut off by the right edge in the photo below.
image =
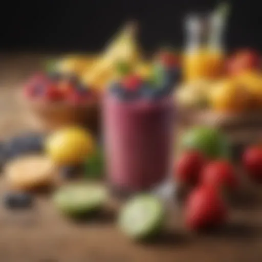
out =
[(242, 163), (251, 180), (262, 183), (262, 147), (248, 147), (244, 151)]

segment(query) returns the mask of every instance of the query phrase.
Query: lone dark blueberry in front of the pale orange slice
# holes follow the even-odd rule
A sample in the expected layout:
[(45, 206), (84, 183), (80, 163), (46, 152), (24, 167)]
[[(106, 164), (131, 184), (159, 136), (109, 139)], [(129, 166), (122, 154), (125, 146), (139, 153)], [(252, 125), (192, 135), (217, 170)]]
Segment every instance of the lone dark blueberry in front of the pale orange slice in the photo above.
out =
[(33, 204), (31, 194), (23, 192), (8, 192), (4, 197), (4, 205), (6, 208), (29, 208)]

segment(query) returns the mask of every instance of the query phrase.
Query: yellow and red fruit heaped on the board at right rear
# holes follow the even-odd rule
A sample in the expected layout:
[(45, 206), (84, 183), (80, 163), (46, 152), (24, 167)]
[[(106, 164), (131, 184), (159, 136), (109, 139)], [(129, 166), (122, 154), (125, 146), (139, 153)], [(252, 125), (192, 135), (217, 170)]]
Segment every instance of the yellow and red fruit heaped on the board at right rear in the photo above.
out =
[(239, 50), (226, 59), (220, 78), (182, 84), (177, 93), (178, 102), (186, 108), (210, 108), (223, 113), (259, 110), (262, 108), (260, 66), (256, 51)]

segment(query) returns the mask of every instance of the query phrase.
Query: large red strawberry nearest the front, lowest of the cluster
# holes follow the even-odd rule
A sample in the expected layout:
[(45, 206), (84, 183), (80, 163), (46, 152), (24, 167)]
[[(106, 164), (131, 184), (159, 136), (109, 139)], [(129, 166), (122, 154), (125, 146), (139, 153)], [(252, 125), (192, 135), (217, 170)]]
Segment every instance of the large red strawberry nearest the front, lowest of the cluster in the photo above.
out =
[(227, 216), (227, 208), (220, 194), (213, 187), (195, 188), (185, 204), (187, 228), (202, 230), (221, 225)]

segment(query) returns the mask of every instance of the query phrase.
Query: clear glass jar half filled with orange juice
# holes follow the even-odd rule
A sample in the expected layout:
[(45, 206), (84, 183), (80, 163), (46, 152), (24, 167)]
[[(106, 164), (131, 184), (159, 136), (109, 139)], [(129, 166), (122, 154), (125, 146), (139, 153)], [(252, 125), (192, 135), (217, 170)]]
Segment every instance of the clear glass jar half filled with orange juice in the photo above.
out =
[(214, 79), (223, 72), (225, 19), (221, 12), (185, 19), (184, 80)]

